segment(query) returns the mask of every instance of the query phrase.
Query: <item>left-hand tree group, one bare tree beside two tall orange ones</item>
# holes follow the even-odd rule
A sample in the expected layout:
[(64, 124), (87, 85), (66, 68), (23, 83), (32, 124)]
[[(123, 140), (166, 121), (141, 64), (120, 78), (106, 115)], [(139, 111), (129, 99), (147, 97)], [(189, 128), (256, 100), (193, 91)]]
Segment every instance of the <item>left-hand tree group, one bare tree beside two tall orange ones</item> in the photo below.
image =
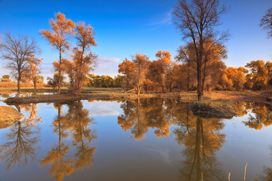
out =
[[(69, 87), (73, 92), (80, 93), (87, 74), (96, 66), (97, 55), (90, 50), (91, 46), (96, 46), (93, 28), (90, 25), (85, 25), (84, 22), (75, 24), (61, 13), (55, 14), (55, 19), (51, 19), (49, 25), (51, 31), (41, 30), (39, 32), (59, 53), (59, 59), (53, 62), (57, 78), (47, 78), (49, 84), (58, 86), (58, 94), (60, 94), (60, 86), (62, 85)], [(63, 58), (63, 54), (71, 49), (72, 38), (76, 41), (76, 46), (70, 55), (72, 60), (68, 60)], [(35, 88), (36, 83), (43, 82), (43, 76), (38, 75), (43, 58), (37, 57), (41, 50), (34, 38), (27, 34), (14, 37), (11, 32), (7, 32), (0, 44), (0, 50), (1, 58), (7, 60), (6, 67), (18, 82), (16, 97), (20, 96), (21, 82), (31, 80)], [(64, 80), (65, 75), (69, 77), (69, 82), (61, 81)], [(53, 80), (57, 80), (57, 83)]]

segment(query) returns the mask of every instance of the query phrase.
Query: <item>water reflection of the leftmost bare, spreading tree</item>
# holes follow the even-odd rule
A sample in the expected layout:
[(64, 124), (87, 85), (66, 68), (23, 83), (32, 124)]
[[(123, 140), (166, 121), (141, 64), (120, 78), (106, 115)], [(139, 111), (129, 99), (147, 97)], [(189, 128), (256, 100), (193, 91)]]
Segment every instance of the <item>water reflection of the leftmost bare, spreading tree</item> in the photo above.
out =
[(37, 146), (40, 141), (40, 128), (36, 124), (41, 122), (41, 119), (37, 115), (36, 104), (16, 107), (20, 112), (22, 108), (26, 112), (31, 109), (33, 113), (29, 117), (18, 120), (4, 134), (4, 143), (0, 145), (0, 160), (7, 164), (6, 169), (10, 169), (16, 164), (18, 166), (27, 166), (29, 160), (31, 162), (35, 160), (36, 154), (40, 150)]

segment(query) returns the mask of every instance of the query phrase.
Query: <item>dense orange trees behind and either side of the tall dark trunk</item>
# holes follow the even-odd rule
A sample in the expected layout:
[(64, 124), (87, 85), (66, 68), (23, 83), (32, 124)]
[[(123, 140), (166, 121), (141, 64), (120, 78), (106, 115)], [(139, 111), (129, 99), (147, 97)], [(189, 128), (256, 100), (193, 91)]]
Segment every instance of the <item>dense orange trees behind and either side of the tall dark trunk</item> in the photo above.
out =
[[(272, 87), (272, 62), (263, 60), (251, 61), (245, 67), (227, 67), (222, 61), (227, 58), (226, 47), (220, 44), (210, 47), (209, 59), (203, 66), (203, 90), (229, 90), (240, 91), (242, 89), (268, 90)], [(135, 90), (140, 93), (141, 88), (145, 92), (165, 92), (168, 88), (179, 91), (192, 91), (197, 89), (197, 65), (193, 44), (180, 46), (171, 60), (168, 51), (159, 50), (157, 60), (149, 61), (149, 57), (136, 54), (132, 61), (125, 58), (120, 64), (118, 72), (124, 74), (121, 86), (126, 91)]]

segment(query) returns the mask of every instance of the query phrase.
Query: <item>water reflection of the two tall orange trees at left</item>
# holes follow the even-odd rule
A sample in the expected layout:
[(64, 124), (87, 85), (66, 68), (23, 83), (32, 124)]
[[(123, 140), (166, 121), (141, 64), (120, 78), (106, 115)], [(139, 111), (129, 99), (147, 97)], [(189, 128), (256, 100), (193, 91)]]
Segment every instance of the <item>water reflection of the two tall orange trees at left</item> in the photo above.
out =
[[(58, 134), (58, 144), (40, 161), (41, 166), (50, 165), (49, 175), (56, 180), (63, 180), (65, 175), (70, 175), (75, 169), (91, 166), (96, 150), (91, 147), (91, 141), (96, 139), (96, 131), (89, 128), (93, 123), (93, 119), (89, 118), (89, 111), (83, 109), (80, 101), (69, 104), (66, 114), (62, 113), (61, 106), (59, 103), (55, 106), (58, 115), (52, 123), (53, 132)], [(74, 157), (67, 156), (71, 148), (63, 142), (68, 134), (73, 135), (72, 143), (76, 147)]]

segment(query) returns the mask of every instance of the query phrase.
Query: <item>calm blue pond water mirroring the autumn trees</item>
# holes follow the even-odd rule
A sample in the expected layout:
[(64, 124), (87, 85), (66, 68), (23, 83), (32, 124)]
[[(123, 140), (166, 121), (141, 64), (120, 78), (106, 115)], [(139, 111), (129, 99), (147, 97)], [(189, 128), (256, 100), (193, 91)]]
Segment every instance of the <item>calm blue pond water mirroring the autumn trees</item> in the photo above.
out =
[[(2, 97), (4, 97), (2, 95)], [(0, 99), (0, 106), (7, 106)], [(272, 180), (272, 109), (199, 118), (168, 99), (20, 105), (0, 125), (0, 180)]]

